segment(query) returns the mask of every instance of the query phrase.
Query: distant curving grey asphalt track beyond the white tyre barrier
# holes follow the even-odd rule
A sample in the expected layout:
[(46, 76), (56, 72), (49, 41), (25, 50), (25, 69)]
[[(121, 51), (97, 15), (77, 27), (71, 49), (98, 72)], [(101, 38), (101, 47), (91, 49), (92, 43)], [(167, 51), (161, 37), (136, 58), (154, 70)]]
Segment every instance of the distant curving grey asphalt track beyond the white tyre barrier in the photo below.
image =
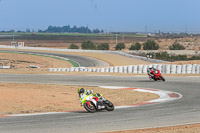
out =
[(33, 54), (47, 54), (47, 55), (53, 55), (53, 56), (59, 56), (63, 58), (67, 58), (69, 60), (75, 61), (78, 63), (81, 67), (107, 67), (109, 66), (108, 63), (97, 60), (95, 58), (86, 57), (86, 56), (76, 56), (71, 54), (58, 54), (58, 53), (48, 53), (48, 52), (30, 52), (30, 51), (14, 51), (14, 50), (0, 50), (0, 52), (23, 52), (23, 53), (33, 53)]

